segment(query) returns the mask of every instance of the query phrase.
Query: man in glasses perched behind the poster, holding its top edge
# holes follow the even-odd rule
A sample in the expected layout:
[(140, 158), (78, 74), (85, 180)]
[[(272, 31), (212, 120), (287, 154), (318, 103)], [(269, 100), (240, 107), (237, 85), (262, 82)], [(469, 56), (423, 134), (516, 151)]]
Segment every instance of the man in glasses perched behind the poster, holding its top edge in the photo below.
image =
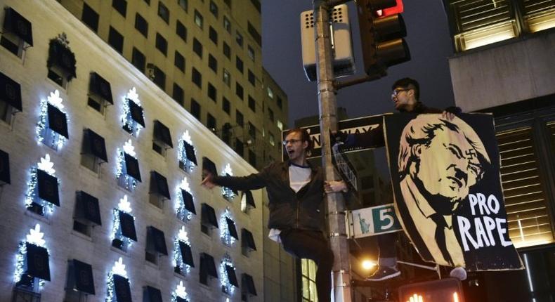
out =
[[(455, 118), (455, 114), (461, 112), (459, 107), (448, 107), (445, 110), (439, 110), (432, 107), (427, 107), (419, 100), (420, 86), (418, 81), (411, 78), (398, 79), (391, 86), (393, 93), (391, 93), (391, 100), (395, 105), (398, 112), (411, 112), (411, 113), (442, 113), (443, 119), (451, 121)], [(383, 142), (383, 137), (376, 137), (369, 135), (369, 133), (349, 134), (346, 136), (339, 133), (338, 139), (343, 141), (346, 145), (374, 145), (374, 142), (380, 140)], [(391, 203), (392, 200), (384, 200), (383, 204)], [(397, 251), (395, 247), (396, 234), (389, 233), (377, 236), (379, 257), (378, 268), (374, 274), (367, 280), (369, 281), (383, 281), (400, 275), (397, 268)], [(457, 271), (458, 272), (458, 271)], [(466, 272), (464, 273), (466, 275)], [(464, 277), (466, 278), (466, 277)]]

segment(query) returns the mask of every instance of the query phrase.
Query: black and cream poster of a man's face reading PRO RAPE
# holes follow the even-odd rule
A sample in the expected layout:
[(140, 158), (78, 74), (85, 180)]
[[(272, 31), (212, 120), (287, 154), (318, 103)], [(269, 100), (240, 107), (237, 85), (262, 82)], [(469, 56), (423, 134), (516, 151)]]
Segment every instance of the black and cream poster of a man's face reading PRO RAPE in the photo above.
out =
[(384, 133), (396, 214), (424, 261), (523, 268), (509, 239), (490, 114), (393, 114)]

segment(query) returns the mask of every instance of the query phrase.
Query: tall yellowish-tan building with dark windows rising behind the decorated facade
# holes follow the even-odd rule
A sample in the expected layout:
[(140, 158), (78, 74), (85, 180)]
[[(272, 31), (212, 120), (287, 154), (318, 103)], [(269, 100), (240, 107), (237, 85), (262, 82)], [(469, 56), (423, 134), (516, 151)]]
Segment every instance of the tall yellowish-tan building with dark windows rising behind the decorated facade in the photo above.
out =
[[(266, 112), (276, 100), (265, 103), (259, 0), (59, 2), (252, 166), (279, 158), (266, 138), (278, 125)], [(280, 98), (272, 110), (287, 124)]]

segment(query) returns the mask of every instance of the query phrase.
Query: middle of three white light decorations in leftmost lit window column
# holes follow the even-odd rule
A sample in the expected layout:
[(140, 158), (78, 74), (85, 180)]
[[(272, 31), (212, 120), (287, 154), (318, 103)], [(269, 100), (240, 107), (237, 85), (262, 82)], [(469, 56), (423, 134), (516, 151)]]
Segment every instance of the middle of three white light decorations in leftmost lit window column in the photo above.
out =
[[(27, 181), (27, 193), (25, 194), (25, 206), (27, 209), (32, 207), (32, 204), (38, 204), (41, 206), (41, 215), (52, 214), (54, 211), (54, 204), (47, 202), (46, 200), (39, 199), (37, 192), (37, 182), (38, 182), (38, 170), (46, 172), (50, 176), (55, 177), (54, 163), (50, 161), (50, 155), (48, 153), (41, 157), (41, 161), (37, 163), (37, 166), (31, 168), (30, 177)], [(58, 179), (58, 185), (60, 185), (60, 180)]]

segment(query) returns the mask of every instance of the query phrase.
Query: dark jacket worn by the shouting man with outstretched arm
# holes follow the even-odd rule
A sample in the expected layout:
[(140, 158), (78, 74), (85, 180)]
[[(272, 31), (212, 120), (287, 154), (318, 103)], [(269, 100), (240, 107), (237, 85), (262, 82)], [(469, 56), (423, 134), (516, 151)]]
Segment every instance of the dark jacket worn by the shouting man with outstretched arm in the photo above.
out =
[(325, 222), (322, 171), (311, 167), (311, 181), (294, 192), (289, 185), (289, 161), (273, 163), (249, 176), (214, 176), (214, 183), (233, 190), (266, 187), (270, 217), (268, 228), (323, 230)]

